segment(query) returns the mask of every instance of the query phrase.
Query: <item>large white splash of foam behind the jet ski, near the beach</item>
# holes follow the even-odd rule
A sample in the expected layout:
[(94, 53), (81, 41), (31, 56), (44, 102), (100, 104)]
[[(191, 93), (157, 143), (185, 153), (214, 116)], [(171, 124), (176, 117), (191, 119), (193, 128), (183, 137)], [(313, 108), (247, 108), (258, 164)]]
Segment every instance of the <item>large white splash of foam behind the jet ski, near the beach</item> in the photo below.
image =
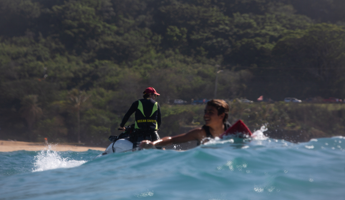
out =
[(51, 150), (42, 150), (35, 156), (33, 172), (45, 171), (58, 168), (72, 168), (80, 166), (86, 161), (69, 160), (62, 158), (58, 152)]

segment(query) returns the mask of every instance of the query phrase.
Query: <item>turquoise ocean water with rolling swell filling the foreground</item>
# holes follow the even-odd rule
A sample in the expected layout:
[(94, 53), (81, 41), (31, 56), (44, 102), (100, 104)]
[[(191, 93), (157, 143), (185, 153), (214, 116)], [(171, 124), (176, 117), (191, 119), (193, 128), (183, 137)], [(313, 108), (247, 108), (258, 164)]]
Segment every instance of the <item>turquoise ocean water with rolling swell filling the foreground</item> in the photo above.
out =
[(344, 200), (345, 137), (257, 137), (186, 151), (0, 152), (0, 200)]

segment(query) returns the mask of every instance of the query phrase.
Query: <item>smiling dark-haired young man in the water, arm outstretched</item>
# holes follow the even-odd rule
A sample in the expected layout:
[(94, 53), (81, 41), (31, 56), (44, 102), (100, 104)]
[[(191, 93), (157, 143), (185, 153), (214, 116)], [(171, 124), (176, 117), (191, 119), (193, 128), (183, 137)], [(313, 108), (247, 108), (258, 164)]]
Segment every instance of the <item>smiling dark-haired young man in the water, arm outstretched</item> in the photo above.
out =
[(219, 137), (226, 131), (230, 124), (228, 119), (229, 105), (220, 99), (212, 99), (207, 102), (204, 113), (205, 125), (195, 128), (187, 133), (176, 135), (173, 137), (163, 137), (156, 141), (141, 141), (139, 147), (141, 149), (150, 149), (152, 147), (164, 147), (171, 144), (185, 143), (197, 140), (202, 144), (215, 137)]

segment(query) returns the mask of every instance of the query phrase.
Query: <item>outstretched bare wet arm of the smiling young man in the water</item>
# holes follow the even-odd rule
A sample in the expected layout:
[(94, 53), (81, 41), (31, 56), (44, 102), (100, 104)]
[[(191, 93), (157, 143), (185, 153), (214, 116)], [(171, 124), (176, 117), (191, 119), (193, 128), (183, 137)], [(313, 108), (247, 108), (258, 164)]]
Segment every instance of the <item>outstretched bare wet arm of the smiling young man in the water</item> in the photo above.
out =
[(172, 137), (163, 137), (160, 140), (151, 142), (149, 140), (141, 141), (139, 147), (141, 149), (150, 149), (152, 147), (164, 147), (171, 144), (185, 143), (189, 141), (201, 141), (206, 137), (206, 132), (202, 128), (194, 128), (188, 133), (172, 136)]

